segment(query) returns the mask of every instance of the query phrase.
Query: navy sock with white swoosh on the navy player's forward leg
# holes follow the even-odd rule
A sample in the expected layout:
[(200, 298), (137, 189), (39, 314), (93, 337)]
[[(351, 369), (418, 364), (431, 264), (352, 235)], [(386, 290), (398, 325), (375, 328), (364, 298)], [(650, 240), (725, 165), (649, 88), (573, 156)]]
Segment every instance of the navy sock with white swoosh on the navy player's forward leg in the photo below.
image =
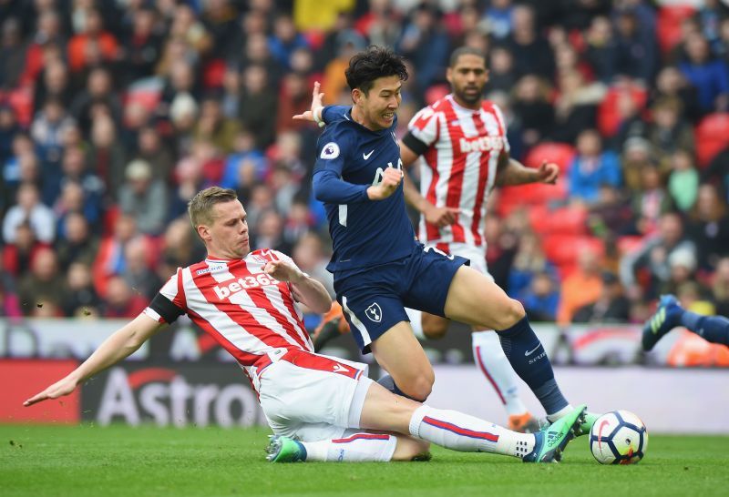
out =
[(511, 367), (524, 380), (541, 402), (547, 414), (564, 409), (569, 402), (554, 380), (554, 371), (539, 338), (524, 318), (507, 330), (497, 331), (501, 349)]

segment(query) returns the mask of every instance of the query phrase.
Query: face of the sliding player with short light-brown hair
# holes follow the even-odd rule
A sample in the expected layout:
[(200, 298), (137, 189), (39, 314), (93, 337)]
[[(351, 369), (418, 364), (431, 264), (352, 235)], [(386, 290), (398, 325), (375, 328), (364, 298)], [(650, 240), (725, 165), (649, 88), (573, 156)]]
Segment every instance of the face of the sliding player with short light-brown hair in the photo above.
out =
[[(251, 250), (248, 242), (248, 221), (238, 200), (221, 202), (213, 207), (214, 220), (207, 229), (210, 256), (221, 259), (242, 259)], [(208, 241), (205, 234), (203, 239)]]

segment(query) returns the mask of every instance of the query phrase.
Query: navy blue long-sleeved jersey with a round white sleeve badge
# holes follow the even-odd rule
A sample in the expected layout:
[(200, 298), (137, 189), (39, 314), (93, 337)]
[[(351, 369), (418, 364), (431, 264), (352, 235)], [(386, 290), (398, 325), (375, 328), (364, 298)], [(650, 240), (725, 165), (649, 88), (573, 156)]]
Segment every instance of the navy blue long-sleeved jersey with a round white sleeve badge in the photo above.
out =
[(416, 236), (402, 184), (385, 200), (370, 200), (366, 192), (382, 181), (385, 168), (402, 169), (396, 117), (392, 127), (372, 131), (354, 122), (350, 107), (324, 112), (331, 124), (316, 145), (313, 191), (324, 203), (334, 245), (327, 269), (361, 269), (406, 258)]

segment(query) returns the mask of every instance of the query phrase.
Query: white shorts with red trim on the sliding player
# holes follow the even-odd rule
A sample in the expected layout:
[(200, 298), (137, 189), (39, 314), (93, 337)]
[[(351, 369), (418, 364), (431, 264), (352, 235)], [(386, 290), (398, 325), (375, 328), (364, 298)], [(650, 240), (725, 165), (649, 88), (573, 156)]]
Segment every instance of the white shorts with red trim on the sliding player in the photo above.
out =
[(301, 441), (356, 432), (373, 383), (366, 364), (303, 350), (291, 350), (262, 368), (258, 380), (261, 407), (273, 432)]

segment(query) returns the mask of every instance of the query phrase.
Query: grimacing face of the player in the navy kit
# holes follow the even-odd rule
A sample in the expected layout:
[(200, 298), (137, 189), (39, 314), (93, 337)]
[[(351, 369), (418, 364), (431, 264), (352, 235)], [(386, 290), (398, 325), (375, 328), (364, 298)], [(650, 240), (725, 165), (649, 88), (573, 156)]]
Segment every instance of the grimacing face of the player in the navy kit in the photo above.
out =
[(375, 79), (366, 94), (356, 89), (354, 102), (360, 110), (360, 124), (374, 131), (391, 127), (403, 99), (400, 95), (402, 86), (399, 76), (385, 76)]

